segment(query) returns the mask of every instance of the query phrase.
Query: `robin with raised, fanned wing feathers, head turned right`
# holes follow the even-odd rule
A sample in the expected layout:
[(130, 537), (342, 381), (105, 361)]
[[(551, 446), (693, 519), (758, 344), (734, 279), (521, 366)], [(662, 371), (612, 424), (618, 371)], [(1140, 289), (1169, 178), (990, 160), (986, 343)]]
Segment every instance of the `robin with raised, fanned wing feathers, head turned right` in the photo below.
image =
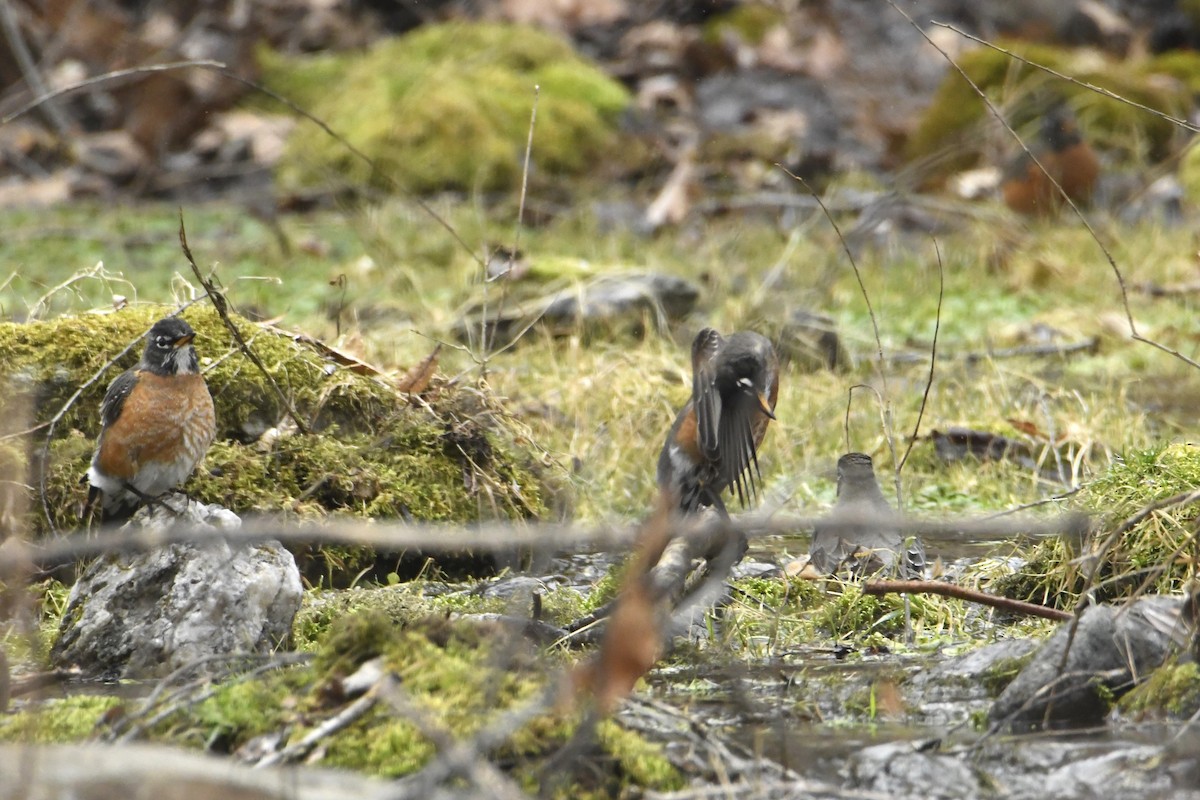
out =
[(758, 493), (758, 447), (775, 419), (779, 357), (764, 336), (724, 337), (706, 327), (691, 343), (691, 398), (659, 453), (659, 488), (684, 513), (712, 506), (727, 517), (725, 489), (743, 506)]

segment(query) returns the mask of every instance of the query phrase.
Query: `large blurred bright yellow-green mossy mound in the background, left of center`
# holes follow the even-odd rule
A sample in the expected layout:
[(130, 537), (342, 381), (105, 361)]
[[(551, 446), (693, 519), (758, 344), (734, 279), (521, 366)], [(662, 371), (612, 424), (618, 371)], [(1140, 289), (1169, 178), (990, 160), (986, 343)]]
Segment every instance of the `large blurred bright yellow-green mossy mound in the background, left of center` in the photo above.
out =
[(329, 122), (382, 173), (304, 124), (280, 167), (284, 186), (336, 175), (386, 190), (394, 179), (413, 192), (512, 187), (535, 85), (534, 168), (580, 174), (614, 154), (614, 122), (629, 102), (565, 41), (516, 25), (426, 25), (362, 54), (259, 58), (268, 86)]

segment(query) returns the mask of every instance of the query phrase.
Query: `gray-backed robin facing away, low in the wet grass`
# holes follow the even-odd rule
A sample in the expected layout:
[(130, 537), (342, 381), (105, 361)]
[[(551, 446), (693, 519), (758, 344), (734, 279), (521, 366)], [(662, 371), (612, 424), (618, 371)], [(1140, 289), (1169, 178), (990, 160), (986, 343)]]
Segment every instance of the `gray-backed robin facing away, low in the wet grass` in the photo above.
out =
[(906, 546), (890, 523), (895, 517), (875, 480), (871, 457), (846, 453), (838, 459), (838, 503), (829, 524), (817, 525), (812, 534), (812, 566), (829, 575), (848, 566), (856, 576), (889, 570), (902, 578), (919, 578), (925, 571), (925, 548), (918, 539)]

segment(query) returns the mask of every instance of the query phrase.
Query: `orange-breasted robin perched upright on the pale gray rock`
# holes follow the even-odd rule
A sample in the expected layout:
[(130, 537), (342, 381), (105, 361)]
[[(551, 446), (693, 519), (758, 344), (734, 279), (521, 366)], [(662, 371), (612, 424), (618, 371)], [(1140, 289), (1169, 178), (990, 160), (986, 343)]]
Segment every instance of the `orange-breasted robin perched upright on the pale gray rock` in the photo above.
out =
[(102, 500), (104, 522), (180, 486), (212, 444), (216, 414), (193, 338), (178, 317), (158, 320), (142, 360), (104, 392), (86, 505)]

